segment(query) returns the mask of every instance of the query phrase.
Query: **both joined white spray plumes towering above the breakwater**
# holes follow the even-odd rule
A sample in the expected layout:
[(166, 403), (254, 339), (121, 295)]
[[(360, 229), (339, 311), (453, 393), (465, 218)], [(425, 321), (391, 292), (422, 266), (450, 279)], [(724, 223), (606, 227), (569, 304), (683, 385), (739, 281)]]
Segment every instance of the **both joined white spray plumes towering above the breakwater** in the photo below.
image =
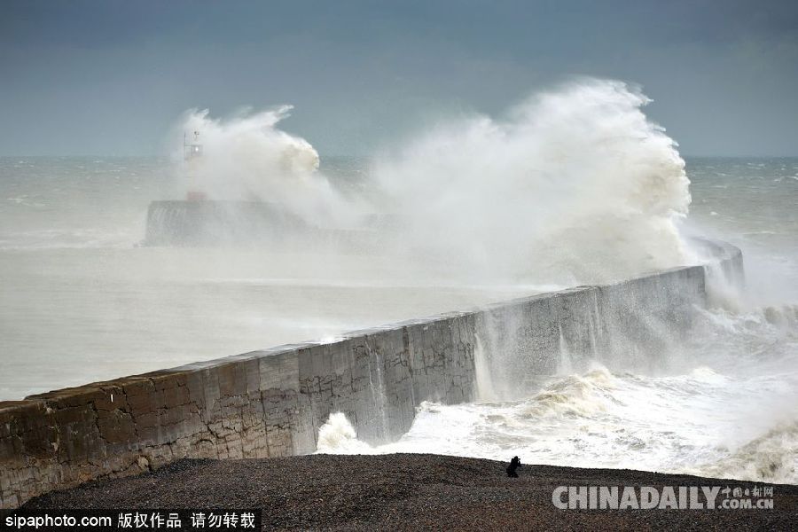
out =
[(227, 120), (192, 110), (176, 129), (200, 132), (196, 179), (210, 199), (379, 231), (370, 253), (403, 255), (404, 278), (575, 286), (692, 258), (678, 230), (690, 203), (685, 162), (645, 117), (649, 101), (623, 82), (585, 79), (502, 118), (442, 123), (376, 157), (360, 195), (341, 193), (312, 145), (279, 129), (290, 106)]

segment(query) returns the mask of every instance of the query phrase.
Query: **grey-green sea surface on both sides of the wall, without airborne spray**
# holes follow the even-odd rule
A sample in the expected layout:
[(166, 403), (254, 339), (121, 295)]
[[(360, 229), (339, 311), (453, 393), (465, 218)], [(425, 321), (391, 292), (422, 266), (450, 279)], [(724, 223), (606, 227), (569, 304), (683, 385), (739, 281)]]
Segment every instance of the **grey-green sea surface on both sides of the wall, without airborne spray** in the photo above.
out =
[[(595, 364), (513, 401), (425, 403), (409, 434), (377, 449), (339, 419), (321, 450), (798, 482), (798, 160), (687, 162), (683, 230), (740, 246), (750, 291), (702, 314), (677, 368)], [(344, 192), (366, 172), (322, 168)], [(149, 201), (182, 194), (172, 175), (168, 160), (0, 159), (0, 400), (544, 288), (458, 283), (445, 263), (419, 276), (407, 257), (139, 247)]]

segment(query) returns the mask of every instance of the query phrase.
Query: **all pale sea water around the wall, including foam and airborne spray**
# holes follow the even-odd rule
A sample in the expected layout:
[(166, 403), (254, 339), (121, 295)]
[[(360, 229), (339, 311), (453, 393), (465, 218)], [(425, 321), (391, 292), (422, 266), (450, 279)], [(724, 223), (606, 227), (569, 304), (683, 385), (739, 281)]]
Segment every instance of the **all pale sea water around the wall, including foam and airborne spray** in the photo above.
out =
[[(703, 310), (667, 364), (573, 364), (563, 341), (557, 374), (509, 391), (485, 380), (477, 403), (424, 403), (386, 445), (336, 416), (319, 450), (796, 482), (798, 160), (685, 166), (647, 101), (585, 80), (372, 160), (319, 157), (280, 129), (288, 107), (187, 112), (172, 137), (179, 155), (183, 132), (200, 131), (195, 168), (179, 156), (0, 158), (0, 400), (691, 263), (685, 237), (708, 235), (743, 249), (748, 289)], [(138, 246), (148, 203), (192, 188), (377, 238)]]

